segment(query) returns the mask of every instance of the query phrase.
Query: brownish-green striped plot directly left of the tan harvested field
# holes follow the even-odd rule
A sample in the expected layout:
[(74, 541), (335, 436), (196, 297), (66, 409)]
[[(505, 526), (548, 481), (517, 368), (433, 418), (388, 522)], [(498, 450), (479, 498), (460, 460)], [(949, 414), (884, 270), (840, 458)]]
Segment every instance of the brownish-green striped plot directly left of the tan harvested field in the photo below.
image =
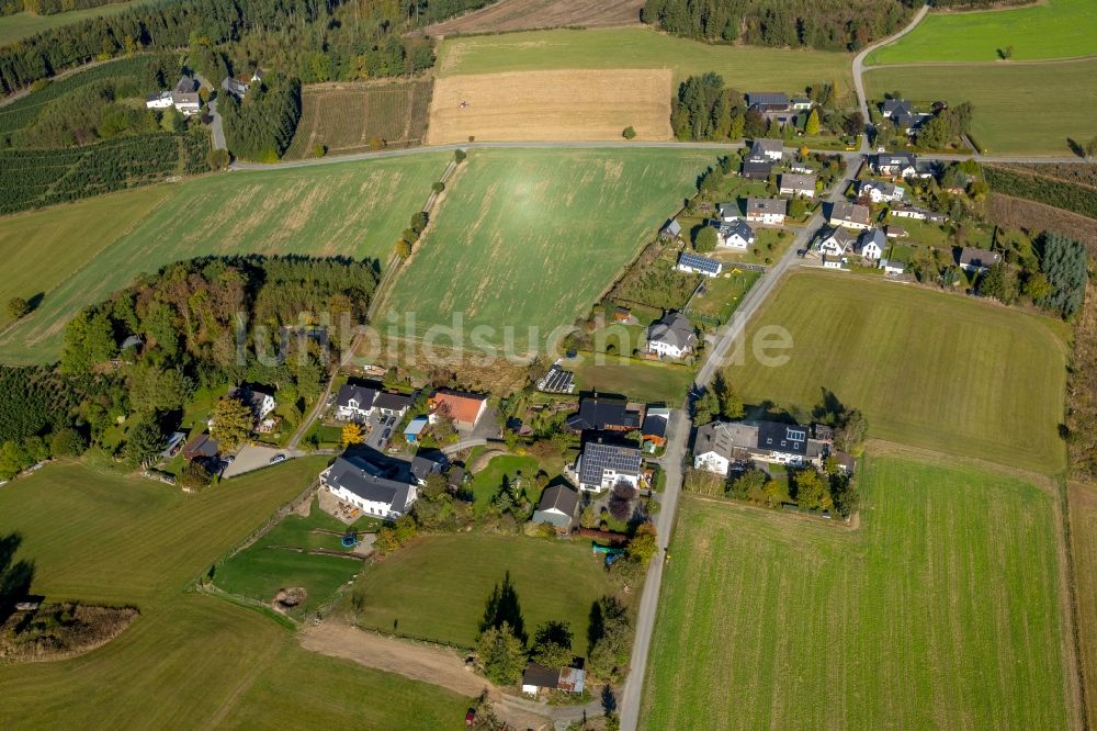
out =
[(286, 159), (415, 147), (427, 135), (431, 80), (395, 83), (324, 83), (305, 87), (301, 122)]

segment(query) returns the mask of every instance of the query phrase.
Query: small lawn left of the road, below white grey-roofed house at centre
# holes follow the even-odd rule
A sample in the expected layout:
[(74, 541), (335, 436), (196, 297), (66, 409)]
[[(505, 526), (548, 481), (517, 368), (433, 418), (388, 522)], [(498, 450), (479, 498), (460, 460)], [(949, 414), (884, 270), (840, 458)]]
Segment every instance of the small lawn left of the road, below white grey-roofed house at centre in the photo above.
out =
[(602, 362), (597, 362), (590, 353), (583, 353), (562, 363), (575, 372), (577, 393), (623, 393), (633, 401), (680, 406), (695, 375), (694, 369), (681, 363), (614, 356), (601, 356), (599, 360)]

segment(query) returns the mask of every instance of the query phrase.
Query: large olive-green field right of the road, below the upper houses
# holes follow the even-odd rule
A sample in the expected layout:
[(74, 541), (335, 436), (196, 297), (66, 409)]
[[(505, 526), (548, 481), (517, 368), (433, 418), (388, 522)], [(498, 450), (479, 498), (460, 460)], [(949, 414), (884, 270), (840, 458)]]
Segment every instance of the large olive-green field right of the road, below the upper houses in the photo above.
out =
[[(811, 313), (811, 314), (808, 314)], [(781, 326), (784, 366), (751, 356)], [(748, 328), (730, 378), (748, 403), (811, 409), (828, 389), (881, 439), (1040, 472), (1064, 468), (1065, 328), (960, 296), (822, 272), (798, 273)]]

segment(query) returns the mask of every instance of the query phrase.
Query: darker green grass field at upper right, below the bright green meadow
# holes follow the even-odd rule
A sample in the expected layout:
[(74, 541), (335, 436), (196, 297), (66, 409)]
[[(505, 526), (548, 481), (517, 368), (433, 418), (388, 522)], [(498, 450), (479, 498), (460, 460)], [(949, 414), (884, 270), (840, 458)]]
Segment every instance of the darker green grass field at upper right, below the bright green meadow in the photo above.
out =
[[(1013, 12), (1013, 11), (1010, 11)], [(885, 67), (867, 71), (867, 93), (901, 91), (912, 100), (975, 106), (972, 136), (987, 155), (1070, 156), (1097, 116), (1097, 59), (1049, 64)], [(1024, 104), (1017, 100), (1024, 99)], [(1064, 100), (1067, 100), (1064, 102)], [(1055, 110), (1050, 114), (1048, 110)]]

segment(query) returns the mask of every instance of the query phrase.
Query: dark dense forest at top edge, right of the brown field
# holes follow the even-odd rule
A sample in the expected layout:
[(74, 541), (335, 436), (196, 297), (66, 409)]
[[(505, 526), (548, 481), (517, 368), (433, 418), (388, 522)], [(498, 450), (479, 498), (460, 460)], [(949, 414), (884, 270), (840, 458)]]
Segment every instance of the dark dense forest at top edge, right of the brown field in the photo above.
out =
[(857, 50), (894, 33), (921, 0), (647, 0), (645, 23), (690, 38)]

